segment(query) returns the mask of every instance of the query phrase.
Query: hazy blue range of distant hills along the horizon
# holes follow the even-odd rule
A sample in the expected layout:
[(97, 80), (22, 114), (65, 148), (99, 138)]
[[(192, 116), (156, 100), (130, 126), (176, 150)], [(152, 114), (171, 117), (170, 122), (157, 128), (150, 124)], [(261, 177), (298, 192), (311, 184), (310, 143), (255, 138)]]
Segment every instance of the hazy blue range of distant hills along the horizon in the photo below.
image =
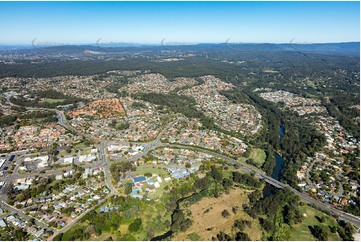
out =
[(297, 43), (284, 43), (284, 44), (238, 44), (238, 43), (220, 43), (220, 44), (195, 44), (195, 45), (141, 45), (141, 44), (126, 44), (120, 46), (103, 46), (96, 44), (89, 45), (62, 45), (51, 47), (36, 47), (36, 46), (11, 46), (0, 45), (0, 51), (23, 50), (24, 52), (39, 52), (46, 51), (50, 53), (62, 54), (79, 54), (84, 51), (94, 51), (100, 53), (110, 53), (117, 51), (180, 51), (192, 53), (205, 53), (205, 52), (223, 52), (234, 53), (235, 51), (244, 52), (282, 52), (293, 51), (302, 53), (317, 53), (326, 55), (346, 55), (346, 56), (360, 56), (360, 42), (345, 42), (345, 43), (322, 43), (322, 44), (297, 44)]

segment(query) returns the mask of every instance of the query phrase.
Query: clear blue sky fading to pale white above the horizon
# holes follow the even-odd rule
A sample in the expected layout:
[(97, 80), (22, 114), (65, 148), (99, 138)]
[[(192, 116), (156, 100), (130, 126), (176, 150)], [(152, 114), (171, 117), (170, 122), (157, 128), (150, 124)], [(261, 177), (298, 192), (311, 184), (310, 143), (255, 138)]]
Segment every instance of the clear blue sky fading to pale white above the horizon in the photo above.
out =
[(359, 2), (0, 2), (0, 44), (360, 41)]

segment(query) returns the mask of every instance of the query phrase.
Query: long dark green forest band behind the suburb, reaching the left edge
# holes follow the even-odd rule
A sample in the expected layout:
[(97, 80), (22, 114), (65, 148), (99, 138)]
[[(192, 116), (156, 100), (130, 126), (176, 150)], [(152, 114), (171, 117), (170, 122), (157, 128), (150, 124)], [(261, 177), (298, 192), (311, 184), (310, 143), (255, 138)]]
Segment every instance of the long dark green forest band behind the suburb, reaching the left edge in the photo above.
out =
[(0, 77), (34, 77), (34, 73), (36, 73), (35, 77), (87, 76), (103, 74), (111, 70), (151, 70), (167, 78), (174, 78), (218, 73), (226, 75), (233, 69), (237, 69), (237, 67), (203, 57), (190, 57), (177, 62), (154, 62), (149, 58), (127, 58), (126, 60), (71, 60), (19, 65), (0, 63)]

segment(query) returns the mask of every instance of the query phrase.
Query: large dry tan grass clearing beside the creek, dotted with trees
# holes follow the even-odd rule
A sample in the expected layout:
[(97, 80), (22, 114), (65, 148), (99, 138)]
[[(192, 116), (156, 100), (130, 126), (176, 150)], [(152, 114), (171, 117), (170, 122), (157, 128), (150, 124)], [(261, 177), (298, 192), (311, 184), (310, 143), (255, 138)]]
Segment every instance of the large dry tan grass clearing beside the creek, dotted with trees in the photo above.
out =
[[(232, 226), (237, 219), (251, 221), (251, 227), (246, 226), (244, 232), (252, 240), (261, 240), (262, 232), (258, 220), (251, 218), (242, 209), (242, 205), (248, 203), (247, 195), (250, 192), (252, 191), (234, 188), (228, 195), (223, 194), (218, 198), (204, 198), (185, 208), (185, 213), (190, 213), (189, 217), (193, 224), (186, 232), (180, 232), (174, 236), (173, 240), (187, 240), (187, 235), (191, 233), (196, 233), (203, 240), (211, 240), (212, 236), (216, 236), (220, 231), (233, 234)], [(232, 212), (232, 207), (235, 206), (239, 207), (236, 214)], [(222, 216), (224, 210), (229, 212), (229, 217), (224, 218)]]

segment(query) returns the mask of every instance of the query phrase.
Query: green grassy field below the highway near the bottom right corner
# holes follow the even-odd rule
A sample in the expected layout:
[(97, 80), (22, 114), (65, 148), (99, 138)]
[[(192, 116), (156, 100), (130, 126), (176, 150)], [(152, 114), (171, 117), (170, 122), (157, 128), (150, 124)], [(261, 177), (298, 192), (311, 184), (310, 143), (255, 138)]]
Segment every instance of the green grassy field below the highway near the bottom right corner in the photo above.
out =
[[(314, 226), (314, 225), (336, 226), (337, 225), (337, 222), (333, 217), (328, 216), (320, 211), (317, 211), (316, 209), (311, 208), (309, 206), (300, 207), (300, 211), (302, 214), (306, 213), (307, 217), (303, 218), (303, 222), (301, 224), (296, 224), (293, 226), (293, 232), (291, 233), (290, 240), (293, 240), (293, 241), (316, 240), (316, 238), (311, 234), (308, 226)], [(326, 217), (325, 222), (321, 223), (320, 221), (317, 220), (316, 216)], [(331, 233), (331, 231), (329, 230), (328, 231), (328, 240), (340, 241), (341, 238), (337, 234)]]

